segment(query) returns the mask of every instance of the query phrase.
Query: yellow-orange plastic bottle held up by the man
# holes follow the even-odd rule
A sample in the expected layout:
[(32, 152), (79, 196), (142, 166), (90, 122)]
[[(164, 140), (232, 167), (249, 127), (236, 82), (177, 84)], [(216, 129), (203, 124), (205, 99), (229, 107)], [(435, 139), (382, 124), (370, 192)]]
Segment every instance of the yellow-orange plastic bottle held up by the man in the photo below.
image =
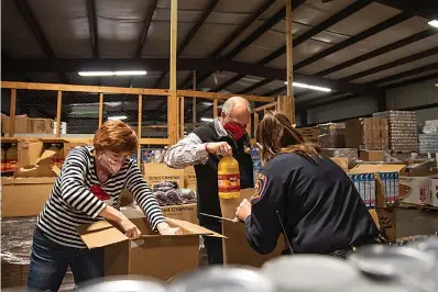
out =
[(220, 199), (240, 196), (240, 171), (238, 161), (225, 156), (218, 165), (218, 191)]

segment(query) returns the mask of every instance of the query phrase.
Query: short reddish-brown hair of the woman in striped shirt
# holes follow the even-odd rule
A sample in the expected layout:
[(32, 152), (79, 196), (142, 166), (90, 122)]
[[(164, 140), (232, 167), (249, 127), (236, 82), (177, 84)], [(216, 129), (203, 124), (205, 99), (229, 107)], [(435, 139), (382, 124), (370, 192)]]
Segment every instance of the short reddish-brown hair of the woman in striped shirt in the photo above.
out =
[(114, 153), (136, 150), (139, 138), (135, 131), (122, 121), (107, 121), (96, 132), (92, 141), (96, 150)]

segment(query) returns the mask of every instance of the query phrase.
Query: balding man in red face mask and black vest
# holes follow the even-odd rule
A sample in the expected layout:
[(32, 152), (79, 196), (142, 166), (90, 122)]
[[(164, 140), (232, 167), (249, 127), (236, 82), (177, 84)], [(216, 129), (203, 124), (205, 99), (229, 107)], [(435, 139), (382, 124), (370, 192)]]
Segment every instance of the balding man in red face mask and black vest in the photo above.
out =
[[(223, 103), (220, 117), (197, 127), (168, 148), (164, 156), (164, 162), (172, 168), (195, 166), (199, 224), (217, 233), (222, 233), (221, 222), (199, 213), (221, 216), (218, 195), (218, 164), (221, 157), (232, 155), (238, 160), (242, 189), (254, 187), (252, 160), (248, 153), (250, 138), (245, 132), (250, 114), (248, 100), (232, 97)], [(223, 262), (220, 238), (205, 237), (205, 246), (209, 265)]]

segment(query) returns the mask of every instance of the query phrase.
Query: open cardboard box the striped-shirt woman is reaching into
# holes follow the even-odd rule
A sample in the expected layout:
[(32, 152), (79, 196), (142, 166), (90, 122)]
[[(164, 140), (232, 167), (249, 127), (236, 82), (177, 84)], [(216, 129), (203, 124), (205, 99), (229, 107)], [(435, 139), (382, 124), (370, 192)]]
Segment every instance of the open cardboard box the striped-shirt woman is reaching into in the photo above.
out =
[(166, 281), (175, 274), (198, 268), (199, 235), (223, 236), (185, 221), (166, 218), (183, 235), (154, 234), (142, 213), (123, 211), (142, 232), (138, 239), (129, 239), (106, 221), (77, 227), (88, 248), (105, 247), (105, 276), (141, 274)]

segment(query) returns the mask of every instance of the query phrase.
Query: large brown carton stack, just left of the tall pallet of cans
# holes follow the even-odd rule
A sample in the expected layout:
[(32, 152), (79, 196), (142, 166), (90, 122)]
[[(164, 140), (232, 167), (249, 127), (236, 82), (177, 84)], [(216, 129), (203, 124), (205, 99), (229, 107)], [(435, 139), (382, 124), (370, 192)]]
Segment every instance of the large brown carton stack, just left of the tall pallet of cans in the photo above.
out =
[(346, 122), (346, 145), (361, 150), (387, 150), (388, 125), (386, 119), (360, 117)]

